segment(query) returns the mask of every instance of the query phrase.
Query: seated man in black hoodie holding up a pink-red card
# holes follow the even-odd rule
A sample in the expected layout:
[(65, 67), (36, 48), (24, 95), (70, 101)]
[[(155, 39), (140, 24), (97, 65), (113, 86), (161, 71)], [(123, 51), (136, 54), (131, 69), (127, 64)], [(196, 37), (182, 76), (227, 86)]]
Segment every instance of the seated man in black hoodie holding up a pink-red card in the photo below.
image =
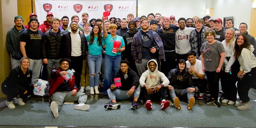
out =
[(115, 78), (120, 78), (121, 86), (115, 85), (115, 82), (113, 82), (107, 90), (112, 104), (106, 104), (104, 107), (108, 110), (119, 109), (120, 105), (116, 104), (116, 100), (131, 100), (133, 98), (131, 108), (137, 109), (139, 106), (137, 101), (140, 96), (140, 81), (136, 72), (129, 67), (127, 60), (121, 60), (120, 69)]

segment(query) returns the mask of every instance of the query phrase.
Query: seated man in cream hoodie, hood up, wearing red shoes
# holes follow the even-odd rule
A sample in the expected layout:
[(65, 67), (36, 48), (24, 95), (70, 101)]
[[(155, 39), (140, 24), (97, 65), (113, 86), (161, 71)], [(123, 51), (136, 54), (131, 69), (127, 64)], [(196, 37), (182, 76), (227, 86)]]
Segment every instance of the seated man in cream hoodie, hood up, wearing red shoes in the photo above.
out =
[[(140, 77), (140, 86), (142, 87), (142, 96), (146, 100), (145, 107), (147, 110), (152, 110), (152, 102), (150, 97), (161, 96), (161, 110), (165, 110), (170, 106), (170, 102), (166, 100), (166, 87), (169, 84), (168, 78), (164, 73), (158, 71), (158, 64), (156, 60), (152, 59), (148, 61), (148, 70), (142, 73)], [(162, 83), (161, 83), (162, 82)]]

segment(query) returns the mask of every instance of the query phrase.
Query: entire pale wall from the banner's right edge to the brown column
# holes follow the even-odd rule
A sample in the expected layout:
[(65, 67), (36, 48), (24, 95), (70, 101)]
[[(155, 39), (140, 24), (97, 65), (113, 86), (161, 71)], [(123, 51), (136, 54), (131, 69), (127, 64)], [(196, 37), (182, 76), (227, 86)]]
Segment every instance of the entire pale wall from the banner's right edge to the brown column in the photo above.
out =
[(214, 18), (233, 16), (234, 27), (238, 28), (241, 22), (250, 25), (252, 0), (138, 0), (138, 16), (149, 13), (160, 13), (162, 16), (174, 15), (192, 18), (205, 16), (206, 8), (214, 8)]

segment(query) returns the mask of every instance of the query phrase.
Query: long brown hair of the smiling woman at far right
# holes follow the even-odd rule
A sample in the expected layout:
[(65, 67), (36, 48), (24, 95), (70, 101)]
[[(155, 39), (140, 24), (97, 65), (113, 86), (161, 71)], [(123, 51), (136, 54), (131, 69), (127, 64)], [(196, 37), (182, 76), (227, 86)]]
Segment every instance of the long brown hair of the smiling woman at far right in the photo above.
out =
[[(242, 36), (244, 38), (244, 44), (241, 44), (240, 46), (237, 44), (237, 39), (239, 36)], [(235, 47), (234, 47), (234, 49), (235, 49), (234, 56), (236, 59), (241, 55), (243, 48), (247, 48), (247, 49), (250, 48), (250, 44), (248, 44), (248, 39), (247, 39), (246, 35), (240, 34), (239, 36), (237, 36), (237, 38), (236, 38)]]

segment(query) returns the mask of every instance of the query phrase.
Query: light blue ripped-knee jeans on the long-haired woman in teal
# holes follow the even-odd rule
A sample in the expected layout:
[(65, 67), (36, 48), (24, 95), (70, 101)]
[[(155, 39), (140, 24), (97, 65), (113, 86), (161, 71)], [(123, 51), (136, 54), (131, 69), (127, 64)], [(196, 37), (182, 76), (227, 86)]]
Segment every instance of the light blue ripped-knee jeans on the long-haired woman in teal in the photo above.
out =
[[(88, 53), (87, 62), (89, 66), (89, 85), (90, 87), (98, 86), (100, 80), (100, 68), (102, 62), (102, 54), (94, 56)], [(92, 74), (94, 74), (92, 76)]]

